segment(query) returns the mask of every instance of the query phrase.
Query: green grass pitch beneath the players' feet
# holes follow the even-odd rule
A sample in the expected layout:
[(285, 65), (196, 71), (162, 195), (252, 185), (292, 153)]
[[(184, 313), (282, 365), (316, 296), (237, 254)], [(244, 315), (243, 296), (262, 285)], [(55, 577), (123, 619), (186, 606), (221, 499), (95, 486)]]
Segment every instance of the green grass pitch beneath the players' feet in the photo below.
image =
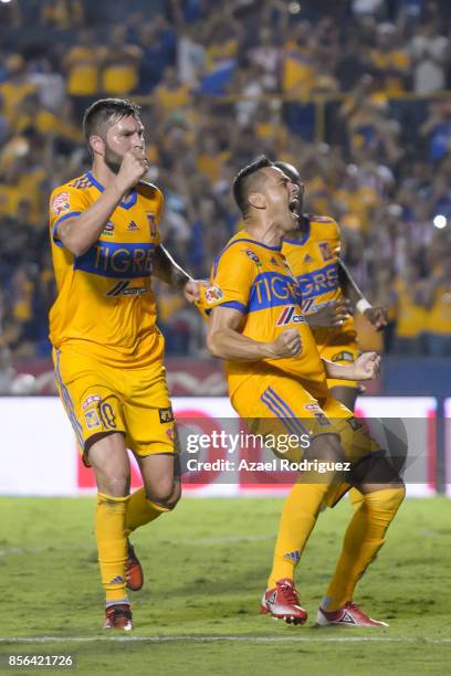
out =
[[(281, 499), (183, 499), (136, 532), (146, 583), (133, 635), (102, 631), (93, 498), (0, 499), (2, 673), (13, 654), (71, 654), (72, 673), (445, 674), (451, 662), (451, 503), (407, 500), (356, 601), (388, 630), (315, 630), (350, 514), (318, 521), (297, 571), (308, 623), (259, 614)], [(48, 637), (43, 640), (43, 637)], [(59, 669), (63, 670), (63, 669)]]

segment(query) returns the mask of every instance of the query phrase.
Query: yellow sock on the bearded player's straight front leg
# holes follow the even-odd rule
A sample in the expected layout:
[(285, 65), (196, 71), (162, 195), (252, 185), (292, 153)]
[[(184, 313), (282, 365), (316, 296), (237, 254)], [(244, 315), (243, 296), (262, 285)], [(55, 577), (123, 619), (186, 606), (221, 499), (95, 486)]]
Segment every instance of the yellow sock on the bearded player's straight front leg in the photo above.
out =
[(125, 562), (127, 560), (125, 515), (129, 497), (129, 495), (113, 497), (97, 493), (95, 537), (102, 584), (107, 602), (127, 599), (125, 590)]

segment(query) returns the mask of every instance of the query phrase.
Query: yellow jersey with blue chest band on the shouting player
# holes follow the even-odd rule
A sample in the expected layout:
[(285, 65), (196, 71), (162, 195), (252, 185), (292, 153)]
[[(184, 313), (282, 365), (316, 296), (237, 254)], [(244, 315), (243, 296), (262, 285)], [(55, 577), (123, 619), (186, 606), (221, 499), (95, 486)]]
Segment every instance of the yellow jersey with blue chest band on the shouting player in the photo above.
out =
[(260, 244), (244, 230), (237, 233), (216, 260), (204, 295), (207, 313), (222, 306), (243, 314), (243, 336), (266, 342), (286, 328), (297, 328), (301, 334), (298, 357), (228, 361), (230, 395), (249, 377), (276, 369), (296, 378), (314, 397), (327, 397), (324, 366), (301, 310), (301, 289), (281, 247)]

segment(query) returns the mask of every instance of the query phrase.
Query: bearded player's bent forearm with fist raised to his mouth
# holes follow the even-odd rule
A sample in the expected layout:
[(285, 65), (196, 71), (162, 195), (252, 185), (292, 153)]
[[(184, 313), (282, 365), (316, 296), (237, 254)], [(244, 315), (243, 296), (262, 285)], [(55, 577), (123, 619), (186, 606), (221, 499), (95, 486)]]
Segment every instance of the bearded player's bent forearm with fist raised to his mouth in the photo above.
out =
[(57, 239), (74, 256), (83, 255), (95, 244), (113, 211), (146, 173), (147, 166), (141, 149), (134, 148), (126, 152), (117, 176), (106, 186), (98, 200), (80, 215), (57, 224)]

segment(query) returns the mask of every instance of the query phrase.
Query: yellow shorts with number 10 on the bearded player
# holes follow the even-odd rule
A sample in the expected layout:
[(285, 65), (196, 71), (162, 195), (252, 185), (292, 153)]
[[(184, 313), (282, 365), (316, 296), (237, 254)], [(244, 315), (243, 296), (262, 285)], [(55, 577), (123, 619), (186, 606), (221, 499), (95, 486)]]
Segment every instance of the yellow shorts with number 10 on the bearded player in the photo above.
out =
[(90, 440), (119, 432), (135, 455), (177, 453), (162, 363), (119, 369), (63, 347), (53, 350), (56, 384), (88, 466)]

